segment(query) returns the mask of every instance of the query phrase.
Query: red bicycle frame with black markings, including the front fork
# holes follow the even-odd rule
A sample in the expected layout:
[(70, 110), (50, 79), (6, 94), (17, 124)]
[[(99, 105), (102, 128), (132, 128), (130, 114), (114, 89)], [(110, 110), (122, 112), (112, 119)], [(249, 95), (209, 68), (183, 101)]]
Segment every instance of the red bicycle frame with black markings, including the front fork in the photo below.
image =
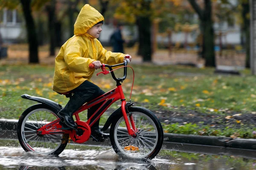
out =
[[(126, 74), (126, 71), (125, 71)], [(92, 127), (92, 125), (102, 116), (102, 114), (117, 100), (121, 100), (122, 104), (121, 104), (121, 110), (122, 110), (122, 115), (124, 117), (125, 120), (125, 125), (127, 127), (128, 130), (128, 134), (130, 136), (135, 137), (136, 136), (136, 128), (134, 125), (134, 120), (131, 114), (129, 114), (129, 119), (131, 122), (131, 126), (129, 124), (129, 120), (127, 117), (127, 113), (126, 113), (126, 109), (125, 109), (125, 105), (126, 105), (126, 101), (125, 101), (125, 96), (122, 90), (122, 85), (120, 83), (116, 84), (116, 88), (114, 88), (113, 90), (103, 94), (102, 96), (97, 97), (96, 99), (93, 99), (90, 102), (87, 102), (86, 104), (82, 105), (81, 108), (79, 108), (74, 114), (73, 116), (76, 117), (76, 121), (80, 121), (80, 117), (79, 117), (79, 113), (81, 113), (82, 111), (87, 110), (88, 108), (91, 108), (94, 105), (99, 104), (100, 102), (103, 102), (102, 105), (96, 110), (95, 113), (93, 113), (93, 115), (87, 120), (87, 124)], [(56, 119), (53, 122), (48, 123), (47, 125), (44, 125), (43, 127), (39, 128), (37, 131), (39, 132), (38, 134), (54, 134), (54, 133), (66, 133), (66, 129), (63, 128), (61, 125), (59, 125), (60, 119)], [(54, 129), (49, 129), (46, 130), (48, 128), (51, 127), (55, 127)], [(132, 129), (131, 129), (132, 128)]]

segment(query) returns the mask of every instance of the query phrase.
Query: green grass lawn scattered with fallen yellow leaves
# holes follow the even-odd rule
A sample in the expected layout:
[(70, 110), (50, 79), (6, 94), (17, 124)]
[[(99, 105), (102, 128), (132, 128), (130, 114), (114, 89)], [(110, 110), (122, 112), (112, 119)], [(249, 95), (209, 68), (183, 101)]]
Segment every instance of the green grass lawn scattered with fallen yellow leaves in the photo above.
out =
[[(214, 74), (214, 68), (150, 64), (131, 66), (135, 71), (131, 99), (152, 111), (174, 111), (183, 107), (208, 115), (232, 116), (230, 111), (256, 113), (256, 77), (251, 76), (249, 70), (242, 71), (241, 76), (232, 76)], [(22, 94), (41, 96), (65, 105), (68, 99), (52, 91), (53, 73), (54, 65), (1, 65), (0, 118), (18, 119), (26, 108), (36, 103), (22, 99)], [(122, 77), (122, 69), (116, 74)], [(132, 70), (128, 68), (128, 77), (123, 82), (126, 99), (129, 99), (132, 79)], [(94, 74), (92, 80), (105, 92), (116, 87), (110, 74), (98, 77)], [(111, 108), (118, 108), (119, 105), (120, 102), (116, 102)], [(87, 114), (81, 114), (81, 119), (86, 120)], [(105, 118), (101, 120), (102, 123)], [(189, 131), (192, 125), (185, 126), (188, 127), (186, 133), (194, 134), (194, 131)], [(164, 125), (164, 130), (173, 133), (171, 129), (179, 127)]]

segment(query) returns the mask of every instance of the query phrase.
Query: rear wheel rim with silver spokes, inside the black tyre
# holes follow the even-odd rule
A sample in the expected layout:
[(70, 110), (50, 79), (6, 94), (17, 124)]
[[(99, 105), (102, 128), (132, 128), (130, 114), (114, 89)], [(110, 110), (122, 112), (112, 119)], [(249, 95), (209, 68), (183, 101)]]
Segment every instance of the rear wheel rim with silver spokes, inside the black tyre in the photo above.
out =
[(36, 133), (38, 128), (55, 119), (57, 119), (56, 114), (44, 108), (33, 110), (24, 118), (21, 125), (21, 135), (28, 150), (48, 155), (60, 147), (62, 134), (39, 136)]

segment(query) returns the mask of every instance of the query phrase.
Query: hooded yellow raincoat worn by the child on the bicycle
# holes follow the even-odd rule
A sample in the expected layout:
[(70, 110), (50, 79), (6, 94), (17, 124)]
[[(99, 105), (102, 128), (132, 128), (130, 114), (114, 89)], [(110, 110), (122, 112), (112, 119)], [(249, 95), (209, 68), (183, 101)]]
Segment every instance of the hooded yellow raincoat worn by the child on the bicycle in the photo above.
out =
[(86, 4), (80, 11), (74, 25), (74, 36), (64, 45), (55, 58), (53, 90), (64, 93), (90, 80), (95, 69), (89, 64), (100, 61), (108, 65), (122, 63), (125, 54), (105, 50), (99, 40), (87, 34), (89, 28), (104, 20), (93, 7)]

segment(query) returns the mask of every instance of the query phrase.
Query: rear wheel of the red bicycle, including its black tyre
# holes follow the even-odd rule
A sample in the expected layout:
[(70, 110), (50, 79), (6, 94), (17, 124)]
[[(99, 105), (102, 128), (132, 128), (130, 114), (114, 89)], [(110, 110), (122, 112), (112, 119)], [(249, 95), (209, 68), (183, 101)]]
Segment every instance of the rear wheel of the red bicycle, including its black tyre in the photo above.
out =
[(40, 127), (56, 119), (58, 119), (57, 114), (46, 105), (36, 104), (27, 108), (20, 116), (17, 125), (17, 136), (21, 147), (26, 152), (59, 155), (67, 146), (69, 134), (38, 135), (36, 133)]

